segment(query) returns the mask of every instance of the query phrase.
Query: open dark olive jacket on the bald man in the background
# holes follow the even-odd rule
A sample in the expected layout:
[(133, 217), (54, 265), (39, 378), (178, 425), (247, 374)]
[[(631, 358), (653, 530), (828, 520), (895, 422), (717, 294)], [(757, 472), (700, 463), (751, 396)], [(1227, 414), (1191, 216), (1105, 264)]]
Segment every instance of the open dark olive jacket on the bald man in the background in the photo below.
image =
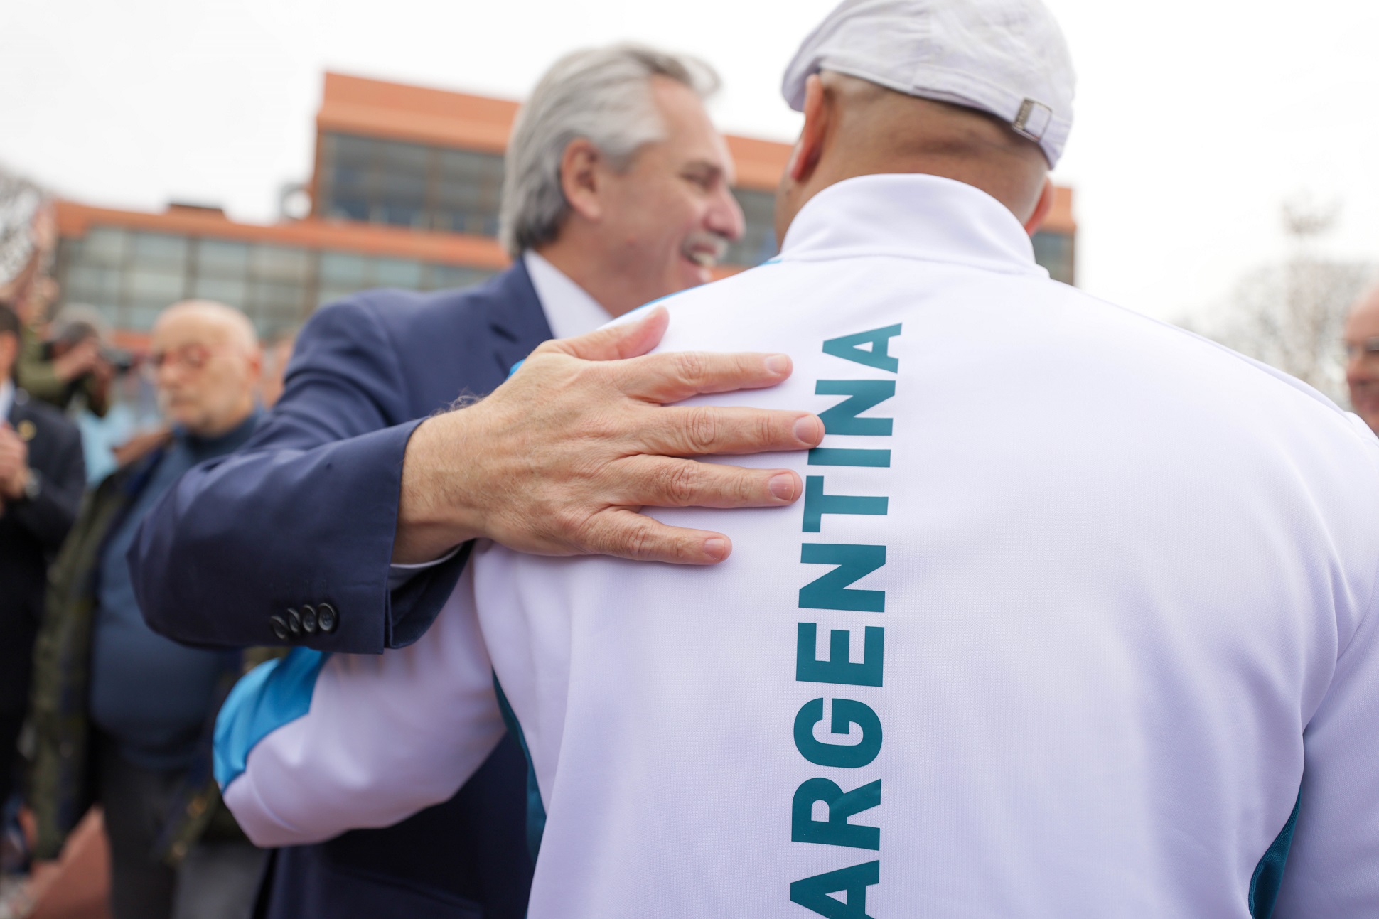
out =
[[(150, 442), (152, 448), (108, 476), (87, 497), (62, 552), (52, 563), (44, 615), (34, 646), (30, 720), (36, 748), (28, 803), (37, 822), (34, 854), (57, 858), (68, 833), (97, 802), (94, 730), (90, 720), (91, 643), (95, 631), (97, 580), (105, 542), (120, 524), (171, 435)], [(250, 666), (268, 660), (261, 651), (226, 653), (219, 679), (223, 698)], [(243, 839), (234, 818), (219, 800), (211, 775), (210, 740), (217, 704), (207, 712), (201, 753), (193, 760), (170, 811), (157, 850), (177, 864), (203, 838)]]

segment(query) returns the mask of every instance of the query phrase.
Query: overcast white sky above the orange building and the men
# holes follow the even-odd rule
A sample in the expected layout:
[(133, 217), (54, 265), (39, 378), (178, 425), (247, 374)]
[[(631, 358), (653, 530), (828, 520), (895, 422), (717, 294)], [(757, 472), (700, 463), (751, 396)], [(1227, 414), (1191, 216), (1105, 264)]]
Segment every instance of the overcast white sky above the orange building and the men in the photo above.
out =
[[(1164, 317), (1285, 247), (1280, 204), (1342, 204), (1325, 246), (1379, 259), (1379, 3), (1047, 0), (1077, 63), (1056, 178), (1080, 283)], [(834, 0), (0, 0), (0, 161), (59, 193), (272, 219), (310, 171), (321, 72), (519, 98), (574, 47), (698, 54), (734, 132), (789, 141), (781, 73)]]

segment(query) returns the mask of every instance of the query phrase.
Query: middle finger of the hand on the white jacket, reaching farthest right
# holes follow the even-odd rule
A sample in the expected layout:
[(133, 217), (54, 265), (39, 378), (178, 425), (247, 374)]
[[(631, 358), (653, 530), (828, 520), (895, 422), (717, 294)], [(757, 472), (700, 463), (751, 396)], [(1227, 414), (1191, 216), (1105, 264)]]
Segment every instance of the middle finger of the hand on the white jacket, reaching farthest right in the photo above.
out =
[(669, 406), (638, 432), (640, 453), (667, 457), (808, 450), (823, 440), (818, 415), (783, 408)]

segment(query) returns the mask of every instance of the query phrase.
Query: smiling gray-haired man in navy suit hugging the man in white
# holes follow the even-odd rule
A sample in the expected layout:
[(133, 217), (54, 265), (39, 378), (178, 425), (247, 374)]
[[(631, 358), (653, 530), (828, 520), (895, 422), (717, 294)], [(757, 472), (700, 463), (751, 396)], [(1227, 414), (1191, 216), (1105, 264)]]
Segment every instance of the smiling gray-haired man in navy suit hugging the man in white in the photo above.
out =
[[(130, 559), (150, 625), (193, 644), (379, 653), (426, 631), (477, 537), (712, 564), (727, 535), (638, 511), (794, 501), (793, 472), (690, 457), (812, 447), (816, 417), (663, 407), (775, 385), (786, 356), (638, 357), (665, 331), (661, 310), (585, 334), (707, 280), (741, 235), (703, 108), (714, 86), (705, 65), (647, 48), (560, 61), (509, 144), (512, 269), (320, 310), (254, 440), (189, 472), (146, 519)], [(525, 775), (509, 738), (444, 804), (280, 851), (263, 915), (520, 919)]]

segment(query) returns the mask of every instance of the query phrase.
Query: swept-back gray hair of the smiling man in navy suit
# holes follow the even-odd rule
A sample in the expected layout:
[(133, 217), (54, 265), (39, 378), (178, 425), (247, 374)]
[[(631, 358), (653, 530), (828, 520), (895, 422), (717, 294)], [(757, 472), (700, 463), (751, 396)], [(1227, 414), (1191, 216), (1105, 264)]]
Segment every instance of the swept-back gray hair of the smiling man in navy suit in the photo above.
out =
[(718, 75), (703, 61), (636, 44), (575, 51), (541, 79), (507, 142), (498, 236), (513, 258), (554, 240), (570, 214), (560, 160), (571, 141), (587, 139), (622, 171), (644, 145), (665, 139), (651, 95), (656, 76), (702, 99), (718, 88)]

